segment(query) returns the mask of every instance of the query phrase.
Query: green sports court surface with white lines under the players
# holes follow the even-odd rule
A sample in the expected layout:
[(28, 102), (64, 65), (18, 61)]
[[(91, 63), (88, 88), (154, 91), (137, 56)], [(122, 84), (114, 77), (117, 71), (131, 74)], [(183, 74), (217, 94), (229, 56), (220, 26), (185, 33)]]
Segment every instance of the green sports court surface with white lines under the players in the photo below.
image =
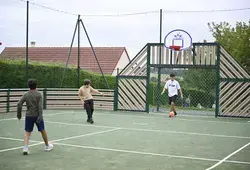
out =
[(0, 169), (250, 169), (249, 119), (167, 113), (45, 110), (51, 152), (37, 129), (22, 155), (24, 119), (0, 115)]

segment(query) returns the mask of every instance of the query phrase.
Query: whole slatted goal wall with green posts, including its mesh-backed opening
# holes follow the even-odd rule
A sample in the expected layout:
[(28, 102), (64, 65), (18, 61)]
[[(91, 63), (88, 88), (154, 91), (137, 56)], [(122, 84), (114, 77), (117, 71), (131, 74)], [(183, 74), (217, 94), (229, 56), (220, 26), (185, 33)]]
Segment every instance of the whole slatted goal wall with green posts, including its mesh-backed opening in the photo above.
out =
[(161, 92), (170, 73), (183, 90), (176, 102), (182, 113), (250, 117), (250, 74), (218, 43), (193, 43), (183, 51), (148, 43), (117, 75), (114, 109), (169, 110)]

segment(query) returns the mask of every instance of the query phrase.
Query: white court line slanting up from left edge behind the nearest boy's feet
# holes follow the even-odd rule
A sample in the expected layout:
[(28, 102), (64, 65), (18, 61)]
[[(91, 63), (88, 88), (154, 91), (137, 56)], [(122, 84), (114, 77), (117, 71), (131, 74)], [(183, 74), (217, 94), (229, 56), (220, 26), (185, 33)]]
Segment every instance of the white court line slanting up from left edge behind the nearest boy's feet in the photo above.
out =
[[(56, 139), (56, 140), (50, 141), (50, 143), (60, 142), (60, 141), (69, 140), (69, 139), (80, 138), (80, 137), (84, 137), (84, 136), (91, 136), (91, 135), (96, 135), (96, 134), (102, 134), (102, 133), (112, 132), (112, 131), (119, 130), (119, 129), (120, 128), (115, 128), (115, 129), (109, 129), (109, 130), (94, 132), (94, 133), (87, 133), (87, 134), (78, 135), (78, 136), (72, 136), (72, 137), (68, 137), (68, 138)], [(9, 139), (11, 139), (11, 138), (9, 138)], [(40, 145), (40, 144), (43, 144), (43, 143), (44, 142), (39, 142), (39, 143), (35, 143), (35, 144), (29, 145), (29, 146), (36, 146), (36, 145)], [(23, 146), (15, 147), (15, 148), (9, 148), (9, 149), (3, 149), (3, 150), (0, 150), (0, 153), (1, 152), (6, 152), (6, 151), (12, 151), (12, 150), (17, 150), (17, 149), (22, 149), (22, 148), (23, 148)]]

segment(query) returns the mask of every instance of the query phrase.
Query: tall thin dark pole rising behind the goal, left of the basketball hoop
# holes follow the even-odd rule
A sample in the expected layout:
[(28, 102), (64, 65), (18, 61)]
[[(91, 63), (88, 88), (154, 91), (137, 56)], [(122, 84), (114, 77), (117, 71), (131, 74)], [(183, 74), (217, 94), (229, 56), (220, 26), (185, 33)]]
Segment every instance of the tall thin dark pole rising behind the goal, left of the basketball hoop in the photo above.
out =
[[(159, 54), (159, 64), (161, 64), (161, 53), (162, 53), (162, 9), (160, 9), (160, 54)], [(158, 87), (157, 87), (157, 91), (158, 91), (158, 96), (160, 95), (161, 92), (161, 68), (158, 68)], [(160, 107), (160, 98), (161, 97), (157, 97), (157, 112), (159, 112), (159, 107)]]

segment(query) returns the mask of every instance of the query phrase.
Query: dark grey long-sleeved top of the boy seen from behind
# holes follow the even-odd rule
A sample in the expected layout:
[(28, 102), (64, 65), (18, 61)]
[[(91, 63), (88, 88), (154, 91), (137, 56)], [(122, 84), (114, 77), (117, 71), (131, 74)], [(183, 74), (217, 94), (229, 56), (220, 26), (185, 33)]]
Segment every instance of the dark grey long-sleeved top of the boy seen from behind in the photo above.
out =
[(17, 104), (17, 115), (22, 114), (23, 103), (26, 102), (27, 111), (26, 116), (36, 117), (43, 116), (43, 97), (37, 90), (30, 90), (26, 92)]

